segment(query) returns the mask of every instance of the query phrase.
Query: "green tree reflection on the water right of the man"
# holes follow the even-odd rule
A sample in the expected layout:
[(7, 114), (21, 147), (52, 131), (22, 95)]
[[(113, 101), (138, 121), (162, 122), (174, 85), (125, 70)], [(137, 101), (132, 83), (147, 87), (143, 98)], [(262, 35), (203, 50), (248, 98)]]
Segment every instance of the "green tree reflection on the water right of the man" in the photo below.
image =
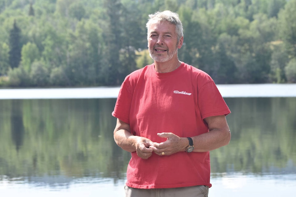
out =
[[(226, 166), (212, 165), (214, 172), (295, 173), (296, 98), (228, 98), (226, 102), (233, 112), (228, 117), (232, 140), (212, 151), (212, 163)], [(227, 153), (225, 159), (219, 159), (222, 151)]]

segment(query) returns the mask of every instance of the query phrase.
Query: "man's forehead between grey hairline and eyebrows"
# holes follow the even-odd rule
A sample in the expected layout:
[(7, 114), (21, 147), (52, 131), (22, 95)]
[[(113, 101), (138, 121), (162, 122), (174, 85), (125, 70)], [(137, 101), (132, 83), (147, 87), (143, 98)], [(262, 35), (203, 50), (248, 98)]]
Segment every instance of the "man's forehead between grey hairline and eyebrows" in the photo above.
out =
[(155, 20), (151, 22), (148, 28), (148, 34), (151, 32), (176, 34), (176, 26), (168, 21)]

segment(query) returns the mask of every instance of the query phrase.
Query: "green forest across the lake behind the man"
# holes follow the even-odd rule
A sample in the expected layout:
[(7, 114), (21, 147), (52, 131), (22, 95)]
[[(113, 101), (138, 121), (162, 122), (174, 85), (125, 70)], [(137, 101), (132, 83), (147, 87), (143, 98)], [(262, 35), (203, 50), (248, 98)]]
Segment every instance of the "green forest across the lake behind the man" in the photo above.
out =
[(216, 84), (296, 83), (296, 0), (0, 0), (0, 86), (119, 86), (153, 62), (158, 10), (183, 23), (179, 60)]

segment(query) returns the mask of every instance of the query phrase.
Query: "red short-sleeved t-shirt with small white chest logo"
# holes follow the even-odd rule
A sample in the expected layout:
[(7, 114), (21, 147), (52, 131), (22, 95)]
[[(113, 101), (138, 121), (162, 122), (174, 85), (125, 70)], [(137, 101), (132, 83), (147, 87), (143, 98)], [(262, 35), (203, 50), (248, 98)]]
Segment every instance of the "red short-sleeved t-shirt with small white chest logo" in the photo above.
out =
[[(121, 85), (112, 115), (130, 124), (133, 135), (153, 142), (166, 139), (157, 133), (192, 137), (208, 132), (203, 119), (230, 113), (212, 78), (182, 62), (176, 70), (157, 73), (154, 64), (129, 74)], [(136, 152), (127, 167), (126, 185), (134, 188), (173, 188), (210, 184), (209, 152), (152, 154)]]

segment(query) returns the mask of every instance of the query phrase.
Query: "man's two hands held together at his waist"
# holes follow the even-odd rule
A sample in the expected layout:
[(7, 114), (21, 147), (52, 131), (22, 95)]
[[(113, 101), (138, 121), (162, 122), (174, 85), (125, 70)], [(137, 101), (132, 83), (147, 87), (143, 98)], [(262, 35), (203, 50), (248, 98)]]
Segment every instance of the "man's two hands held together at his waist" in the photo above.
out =
[[(135, 142), (137, 155), (142, 159), (148, 159), (153, 152), (159, 156), (172, 155), (176, 152), (185, 151), (182, 138), (173, 133), (158, 133), (161, 138), (167, 138), (165, 142), (157, 143), (152, 142), (148, 138), (138, 137)], [(187, 138), (185, 139), (187, 140)], [(188, 141), (188, 140), (187, 140)]]

